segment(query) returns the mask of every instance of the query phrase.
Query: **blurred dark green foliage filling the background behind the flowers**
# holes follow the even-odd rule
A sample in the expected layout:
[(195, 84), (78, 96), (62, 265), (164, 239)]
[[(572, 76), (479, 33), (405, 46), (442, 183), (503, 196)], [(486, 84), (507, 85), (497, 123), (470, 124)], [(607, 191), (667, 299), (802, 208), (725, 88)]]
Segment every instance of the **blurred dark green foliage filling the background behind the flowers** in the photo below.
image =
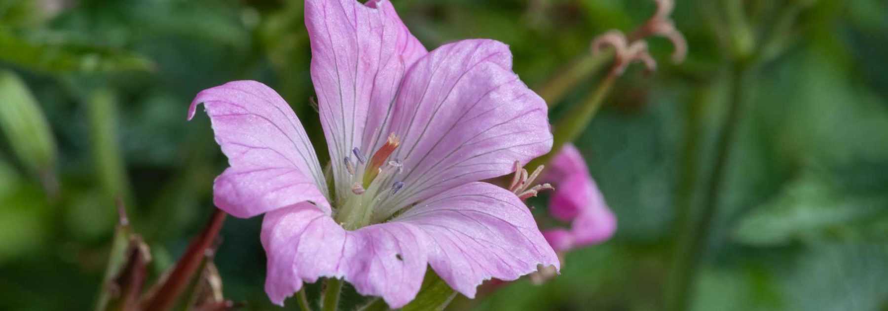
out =
[[(510, 44), (531, 86), (654, 11), (649, 0), (392, 2), (427, 47)], [(630, 69), (576, 142), (619, 219), (614, 239), (568, 254), (550, 283), (452, 308), (662, 309), (681, 224), (712, 183), (732, 68), (754, 60), (691, 308), (888, 309), (888, 3), (689, 0), (672, 19), (688, 60), (672, 65), (670, 44), (648, 40), (658, 71)], [(91, 308), (115, 197), (152, 246), (151, 277), (178, 258), (226, 166), (207, 118), (185, 121), (202, 89), (272, 85), (326, 156), (309, 56), (299, 1), (0, 0), (0, 309)], [(599, 79), (569, 88), (552, 120)], [(276, 309), (259, 222), (229, 219), (216, 261), (228, 298)]]

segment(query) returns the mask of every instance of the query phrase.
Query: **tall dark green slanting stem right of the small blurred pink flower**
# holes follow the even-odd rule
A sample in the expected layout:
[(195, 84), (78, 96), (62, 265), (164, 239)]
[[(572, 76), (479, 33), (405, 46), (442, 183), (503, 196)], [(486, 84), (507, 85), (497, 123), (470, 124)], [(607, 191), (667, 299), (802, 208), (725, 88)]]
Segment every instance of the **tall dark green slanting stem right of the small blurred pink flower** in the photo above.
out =
[(724, 193), (725, 171), (731, 156), (733, 137), (741, 120), (743, 79), (746, 71), (746, 67), (740, 63), (733, 68), (730, 102), (725, 123), (716, 140), (715, 163), (709, 188), (704, 197), (703, 210), (693, 224), (682, 230), (684, 234), (678, 236), (666, 298), (666, 309), (670, 311), (686, 310), (689, 307), (689, 298), (694, 291), (700, 259), (706, 251), (706, 238), (710, 236), (712, 220), (718, 213), (718, 203)]

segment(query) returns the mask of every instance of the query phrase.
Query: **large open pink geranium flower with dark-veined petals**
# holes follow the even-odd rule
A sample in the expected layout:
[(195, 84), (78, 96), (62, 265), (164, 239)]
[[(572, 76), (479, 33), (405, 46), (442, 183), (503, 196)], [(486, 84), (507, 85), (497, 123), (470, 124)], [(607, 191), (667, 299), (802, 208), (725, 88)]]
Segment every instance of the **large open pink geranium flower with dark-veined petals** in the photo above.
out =
[(266, 213), (266, 292), (344, 278), (402, 307), (430, 265), (472, 298), (484, 280), (559, 267), (524, 203), (481, 182), (551, 148), (546, 105), (493, 40), (427, 52), (388, 1), (305, 1), (311, 74), (329, 147), (321, 168), (302, 124), (265, 84), (200, 92), (231, 165), (218, 208)]

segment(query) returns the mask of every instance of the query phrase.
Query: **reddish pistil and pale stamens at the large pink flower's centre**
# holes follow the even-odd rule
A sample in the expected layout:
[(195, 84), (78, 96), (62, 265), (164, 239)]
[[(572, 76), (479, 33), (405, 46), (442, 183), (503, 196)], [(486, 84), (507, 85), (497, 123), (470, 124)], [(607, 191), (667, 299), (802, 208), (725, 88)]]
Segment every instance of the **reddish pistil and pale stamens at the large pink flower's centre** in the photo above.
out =
[(396, 194), (404, 183), (396, 176), (402, 171), (400, 160), (389, 160), (400, 146), (398, 136), (389, 135), (385, 145), (367, 161), (360, 148), (352, 149), (352, 156), (345, 156), (345, 170), (348, 171), (350, 189), (337, 189), (345, 193), (343, 203), (334, 217), (349, 230), (370, 224), (374, 206), (390, 195)]

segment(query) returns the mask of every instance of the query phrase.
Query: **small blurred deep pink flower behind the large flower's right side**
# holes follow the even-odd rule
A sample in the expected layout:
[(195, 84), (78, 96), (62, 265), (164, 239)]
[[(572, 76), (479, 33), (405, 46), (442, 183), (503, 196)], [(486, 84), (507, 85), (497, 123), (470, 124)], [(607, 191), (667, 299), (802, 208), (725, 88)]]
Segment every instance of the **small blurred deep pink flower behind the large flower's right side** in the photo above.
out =
[(616, 217), (607, 208), (604, 196), (586, 167), (585, 160), (574, 145), (565, 145), (552, 158), (543, 180), (555, 186), (549, 200), (551, 216), (570, 223), (570, 228), (543, 232), (555, 251), (601, 243), (614, 235)]

